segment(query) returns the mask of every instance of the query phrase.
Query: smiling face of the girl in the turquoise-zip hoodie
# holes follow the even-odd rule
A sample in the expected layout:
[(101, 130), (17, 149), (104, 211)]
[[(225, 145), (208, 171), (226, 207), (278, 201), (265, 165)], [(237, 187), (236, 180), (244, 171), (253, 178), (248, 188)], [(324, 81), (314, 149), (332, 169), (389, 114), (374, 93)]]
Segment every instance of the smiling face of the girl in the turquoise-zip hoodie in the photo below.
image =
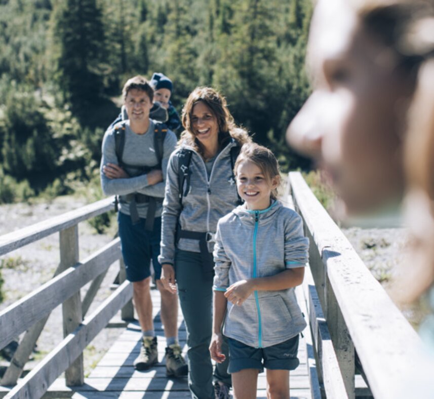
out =
[(277, 185), (278, 177), (268, 181), (261, 168), (251, 161), (242, 161), (236, 168), (236, 188), (246, 202), (247, 209), (267, 209), (271, 190)]

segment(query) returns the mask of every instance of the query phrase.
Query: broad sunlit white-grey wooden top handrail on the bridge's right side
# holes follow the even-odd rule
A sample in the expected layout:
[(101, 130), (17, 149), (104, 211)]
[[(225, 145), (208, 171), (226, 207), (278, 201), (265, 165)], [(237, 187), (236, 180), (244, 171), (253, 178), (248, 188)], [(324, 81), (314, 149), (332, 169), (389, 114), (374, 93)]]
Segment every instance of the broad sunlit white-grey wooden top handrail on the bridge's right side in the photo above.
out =
[(424, 356), (414, 329), (314, 197), (301, 174), (291, 172), (289, 179), (294, 201), (322, 255), (330, 286), (373, 395), (384, 399), (405, 397), (404, 392), (410, 392), (414, 381), (425, 385), (423, 397), (434, 395), (434, 386), (428, 383), (433, 373), (426, 372), (434, 370), (434, 365)]

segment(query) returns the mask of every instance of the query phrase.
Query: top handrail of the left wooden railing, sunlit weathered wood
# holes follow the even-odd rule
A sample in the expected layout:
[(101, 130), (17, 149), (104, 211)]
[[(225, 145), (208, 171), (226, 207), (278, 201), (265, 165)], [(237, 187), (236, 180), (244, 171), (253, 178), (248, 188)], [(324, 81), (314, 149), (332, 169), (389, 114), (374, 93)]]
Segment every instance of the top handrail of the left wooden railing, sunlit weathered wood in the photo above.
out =
[(48, 235), (76, 225), (83, 220), (114, 209), (114, 197), (101, 199), (101, 201), (52, 217), (31, 226), (0, 236), (0, 255), (7, 254), (34, 241), (41, 240)]

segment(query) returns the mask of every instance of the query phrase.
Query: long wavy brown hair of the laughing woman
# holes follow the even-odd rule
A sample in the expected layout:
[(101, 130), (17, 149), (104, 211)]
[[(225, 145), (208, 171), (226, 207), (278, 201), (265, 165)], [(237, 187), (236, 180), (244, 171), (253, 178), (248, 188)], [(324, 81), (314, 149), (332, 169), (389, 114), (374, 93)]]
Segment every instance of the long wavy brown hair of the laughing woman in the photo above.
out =
[(203, 145), (196, 138), (191, 124), (193, 107), (200, 101), (210, 108), (214, 116), (217, 118), (219, 128), (219, 148), (221, 148), (230, 137), (238, 141), (240, 145), (252, 141), (245, 129), (235, 125), (233, 116), (227, 108), (226, 99), (218, 91), (211, 87), (196, 87), (190, 93), (184, 107), (182, 108), (181, 119), (185, 130), (181, 133), (178, 145), (184, 144), (191, 146), (201, 155), (204, 154)]

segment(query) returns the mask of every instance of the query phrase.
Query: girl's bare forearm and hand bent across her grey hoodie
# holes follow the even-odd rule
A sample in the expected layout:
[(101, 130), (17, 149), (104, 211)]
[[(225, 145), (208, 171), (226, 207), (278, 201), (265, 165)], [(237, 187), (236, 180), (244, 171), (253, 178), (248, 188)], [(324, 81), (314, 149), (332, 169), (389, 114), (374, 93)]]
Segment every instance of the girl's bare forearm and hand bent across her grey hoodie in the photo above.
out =
[(224, 293), (234, 305), (242, 305), (254, 291), (280, 291), (299, 286), (303, 282), (304, 266), (286, 269), (268, 277), (249, 278), (232, 284)]

